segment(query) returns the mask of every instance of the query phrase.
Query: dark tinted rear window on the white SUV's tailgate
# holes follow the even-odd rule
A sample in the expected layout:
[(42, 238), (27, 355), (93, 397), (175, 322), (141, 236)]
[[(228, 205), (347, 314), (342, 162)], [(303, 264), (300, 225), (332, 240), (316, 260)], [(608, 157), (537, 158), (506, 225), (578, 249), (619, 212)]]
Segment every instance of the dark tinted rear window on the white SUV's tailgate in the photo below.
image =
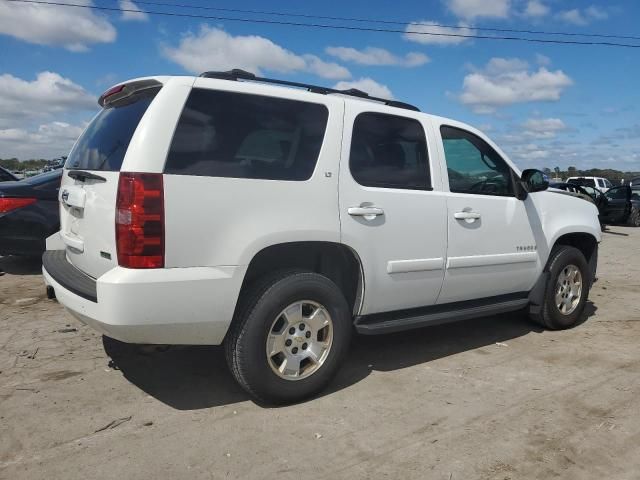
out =
[(71, 150), (65, 168), (117, 172), (140, 119), (159, 89), (148, 89), (103, 109)]

